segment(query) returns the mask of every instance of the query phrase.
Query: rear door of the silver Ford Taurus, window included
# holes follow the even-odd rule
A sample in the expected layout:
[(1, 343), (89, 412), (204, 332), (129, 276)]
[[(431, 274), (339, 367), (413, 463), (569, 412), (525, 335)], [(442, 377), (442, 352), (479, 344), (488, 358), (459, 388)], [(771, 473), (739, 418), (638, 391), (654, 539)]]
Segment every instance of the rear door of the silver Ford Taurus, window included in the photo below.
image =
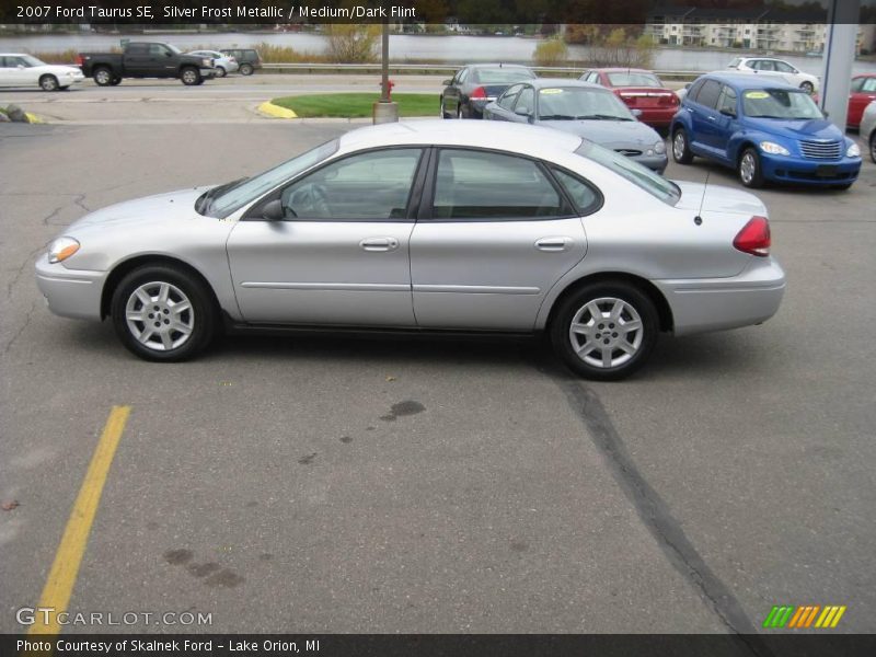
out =
[(586, 252), (567, 195), (540, 162), (482, 149), (438, 149), (427, 180), (411, 238), (417, 325), (532, 331)]

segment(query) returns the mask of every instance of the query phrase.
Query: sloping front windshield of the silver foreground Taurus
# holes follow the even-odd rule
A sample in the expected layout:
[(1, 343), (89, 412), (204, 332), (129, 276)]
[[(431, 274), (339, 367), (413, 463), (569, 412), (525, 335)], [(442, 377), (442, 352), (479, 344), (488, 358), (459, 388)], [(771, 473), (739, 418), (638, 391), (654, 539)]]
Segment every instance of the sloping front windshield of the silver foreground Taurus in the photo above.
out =
[(242, 178), (214, 187), (201, 194), (195, 204), (195, 210), (207, 217), (224, 219), (246, 204), (256, 200), (280, 183), (315, 166), (337, 152), (338, 141), (333, 139), (313, 150), (292, 158), (251, 178)]

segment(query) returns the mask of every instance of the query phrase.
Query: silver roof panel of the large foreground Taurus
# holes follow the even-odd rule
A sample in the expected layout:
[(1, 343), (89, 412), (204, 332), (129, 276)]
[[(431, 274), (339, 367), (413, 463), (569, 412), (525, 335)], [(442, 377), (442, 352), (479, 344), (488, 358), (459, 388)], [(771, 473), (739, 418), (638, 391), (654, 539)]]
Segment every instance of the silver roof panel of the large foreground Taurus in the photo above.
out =
[(574, 151), (581, 138), (538, 126), (494, 120), (417, 119), (369, 126), (341, 137), (344, 152), (385, 146), (471, 146), (539, 157)]

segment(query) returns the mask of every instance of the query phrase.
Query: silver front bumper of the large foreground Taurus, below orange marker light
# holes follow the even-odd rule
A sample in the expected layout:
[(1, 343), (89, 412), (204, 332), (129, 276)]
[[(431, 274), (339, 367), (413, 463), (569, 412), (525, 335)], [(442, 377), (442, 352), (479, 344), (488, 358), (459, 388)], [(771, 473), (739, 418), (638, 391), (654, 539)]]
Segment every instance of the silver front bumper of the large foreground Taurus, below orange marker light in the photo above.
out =
[(49, 264), (43, 254), (36, 261), (36, 286), (48, 309), (62, 318), (101, 319), (101, 295), (106, 272), (68, 269), (62, 263)]

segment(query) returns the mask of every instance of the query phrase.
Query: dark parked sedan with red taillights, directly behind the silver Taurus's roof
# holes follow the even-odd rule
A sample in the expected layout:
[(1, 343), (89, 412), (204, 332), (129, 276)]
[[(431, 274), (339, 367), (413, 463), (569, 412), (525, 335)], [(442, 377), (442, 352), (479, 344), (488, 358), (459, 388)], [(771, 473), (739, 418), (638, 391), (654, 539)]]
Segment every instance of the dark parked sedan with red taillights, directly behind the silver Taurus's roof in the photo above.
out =
[(466, 66), (451, 80), (445, 80), (441, 92), (441, 118), (482, 118), (484, 107), (509, 85), (534, 80), (535, 73), (525, 66), (477, 64)]

